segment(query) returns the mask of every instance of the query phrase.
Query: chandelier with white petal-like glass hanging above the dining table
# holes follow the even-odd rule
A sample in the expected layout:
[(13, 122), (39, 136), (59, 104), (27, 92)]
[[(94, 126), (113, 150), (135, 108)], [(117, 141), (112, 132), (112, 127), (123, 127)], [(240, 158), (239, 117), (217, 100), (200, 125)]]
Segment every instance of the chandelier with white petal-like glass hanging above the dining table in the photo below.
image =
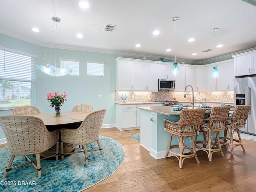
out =
[[(40, 70), (40, 71), (42, 71), (45, 74), (48, 74), (50, 76), (60, 77), (60, 76), (64, 76), (66, 74), (69, 74), (69, 73), (73, 72), (73, 70), (71, 68), (68, 68), (68, 67), (60, 67), (60, 68), (56, 67), (57, 34), (58, 34), (58, 39), (60, 39), (59, 38), (59, 31), (60, 31), (60, 34), (62, 34), (62, 33), (61, 33), (60, 24), (59, 24), (60, 18), (53, 17), (52, 20), (53, 20), (52, 32), (51, 32), (52, 37), (53, 37), (53, 31), (55, 31), (55, 66), (50, 64), (50, 57), (49, 57), (49, 63), (46, 64), (46, 66), (44, 65), (44, 63), (43, 63), (43, 65), (40, 65), (40, 66), (36, 65), (36, 67), (37, 67), (36, 69), (38, 69), (38, 70)], [(52, 44), (53, 44), (53, 41), (52, 41)], [(51, 56), (51, 52), (52, 52), (52, 44), (51, 44), (50, 56)], [(44, 56), (44, 60), (46, 58), (46, 54), (47, 54), (47, 49), (46, 49), (46, 53), (45, 53), (45, 56)]]

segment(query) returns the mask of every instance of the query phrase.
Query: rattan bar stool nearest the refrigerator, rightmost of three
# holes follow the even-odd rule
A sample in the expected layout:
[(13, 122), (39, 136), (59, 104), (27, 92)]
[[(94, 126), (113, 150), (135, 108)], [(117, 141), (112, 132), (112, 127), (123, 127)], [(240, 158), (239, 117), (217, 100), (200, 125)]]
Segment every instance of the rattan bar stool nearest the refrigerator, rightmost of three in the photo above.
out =
[[(245, 127), (250, 108), (250, 105), (236, 106), (233, 114), (228, 117), (225, 124), (226, 128), (224, 129), (224, 137), (220, 137), (220, 140), (222, 140), (220, 141), (220, 144), (228, 146), (232, 155), (234, 154), (234, 148), (237, 146), (241, 146), (245, 152), (239, 129)], [(238, 140), (234, 139), (234, 132), (237, 132)]]

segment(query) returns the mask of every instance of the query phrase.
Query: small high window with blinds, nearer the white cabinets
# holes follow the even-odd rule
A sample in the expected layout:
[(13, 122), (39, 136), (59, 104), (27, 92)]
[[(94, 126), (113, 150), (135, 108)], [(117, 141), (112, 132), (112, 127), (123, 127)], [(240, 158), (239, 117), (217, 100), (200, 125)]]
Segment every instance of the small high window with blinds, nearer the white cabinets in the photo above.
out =
[(87, 61), (87, 76), (104, 76), (104, 62)]

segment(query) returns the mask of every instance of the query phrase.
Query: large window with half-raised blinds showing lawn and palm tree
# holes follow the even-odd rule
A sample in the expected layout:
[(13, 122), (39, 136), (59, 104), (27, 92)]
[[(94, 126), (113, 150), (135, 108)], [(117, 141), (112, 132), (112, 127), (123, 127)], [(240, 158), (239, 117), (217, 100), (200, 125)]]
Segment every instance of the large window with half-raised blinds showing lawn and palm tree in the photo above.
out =
[(0, 110), (35, 104), (35, 58), (0, 47)]

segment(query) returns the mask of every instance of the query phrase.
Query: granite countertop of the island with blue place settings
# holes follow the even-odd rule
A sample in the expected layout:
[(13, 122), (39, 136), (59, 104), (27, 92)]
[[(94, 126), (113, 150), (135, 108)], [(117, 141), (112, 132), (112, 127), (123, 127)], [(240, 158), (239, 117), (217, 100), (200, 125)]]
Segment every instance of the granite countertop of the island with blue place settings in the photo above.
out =
[[(162, 115), (168, 115), (168, 116), (173, 116), (173, 115), (180, 115), (180, 111), (173, 111), (172, 109), (174, 106), (152, 106), (152, 107), (137, 107), (138, 109), (146, 110), (146, 111), (151, 111), (155, 112), (158, 114)], [(192, 107), (187, 107), (188, 109), (192, 109)], [(198, 108), (198, 106), (195, 106), (195, 109)], [(234, 110), (234, 108), (230, 108), (230, 110)], [(210, 113), (211, 110), (206, 110), (206, 113)]]

